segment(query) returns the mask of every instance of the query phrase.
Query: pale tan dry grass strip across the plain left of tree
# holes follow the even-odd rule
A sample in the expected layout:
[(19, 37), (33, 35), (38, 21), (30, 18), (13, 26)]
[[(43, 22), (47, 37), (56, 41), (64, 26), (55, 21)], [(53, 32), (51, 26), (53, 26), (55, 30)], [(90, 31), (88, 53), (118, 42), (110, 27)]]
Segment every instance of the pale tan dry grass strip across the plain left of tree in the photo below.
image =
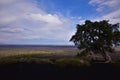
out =
[(0, 50), (0, 58), (17, 55), (28, 55), (28, 54), (39, 54), (39, 55), (75, 55), (73, 53), (65, 52), (62, 50), (57, 51), (39, 51), (39, 50), (28, 50), (23, 48), (12, 48)]

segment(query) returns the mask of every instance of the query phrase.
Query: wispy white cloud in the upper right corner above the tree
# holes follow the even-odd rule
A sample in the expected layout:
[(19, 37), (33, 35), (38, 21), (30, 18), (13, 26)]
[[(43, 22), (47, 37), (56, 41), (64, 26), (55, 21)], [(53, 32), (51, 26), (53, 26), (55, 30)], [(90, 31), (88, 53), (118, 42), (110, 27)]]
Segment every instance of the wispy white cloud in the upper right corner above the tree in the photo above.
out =
[(96, 7), (98, 15), (102, 14), (92, 21), (109, 20), (110, 23), (120, 23), (120, 0), (90, 0), (89, 4)]

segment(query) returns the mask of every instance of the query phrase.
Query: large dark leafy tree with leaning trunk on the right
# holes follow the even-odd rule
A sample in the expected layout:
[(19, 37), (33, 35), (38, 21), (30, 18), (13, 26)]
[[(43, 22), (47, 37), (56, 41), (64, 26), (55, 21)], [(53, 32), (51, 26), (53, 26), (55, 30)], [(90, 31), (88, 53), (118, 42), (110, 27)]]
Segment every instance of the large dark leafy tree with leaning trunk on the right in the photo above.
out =
[(109, 52), (114, 52), (114, 46), (120, 45), (119, 24), (109, 21), (86, 20), (85, 24), (77, 24), (77, 31), (70, 41), (74, 42), (81, 54), (96, 54), (103, 56), (106, 63), (111, 62)]

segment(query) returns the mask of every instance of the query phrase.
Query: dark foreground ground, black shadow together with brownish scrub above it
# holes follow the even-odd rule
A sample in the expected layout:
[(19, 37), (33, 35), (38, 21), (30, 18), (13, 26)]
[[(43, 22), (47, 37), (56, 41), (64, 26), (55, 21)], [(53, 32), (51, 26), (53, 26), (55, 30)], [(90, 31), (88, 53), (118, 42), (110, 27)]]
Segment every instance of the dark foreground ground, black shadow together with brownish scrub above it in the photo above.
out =
[(0, 80), (119, 80), (120, 63), (92, 63), (86, 58), (36, 58), (37, 55), (0, 59)]

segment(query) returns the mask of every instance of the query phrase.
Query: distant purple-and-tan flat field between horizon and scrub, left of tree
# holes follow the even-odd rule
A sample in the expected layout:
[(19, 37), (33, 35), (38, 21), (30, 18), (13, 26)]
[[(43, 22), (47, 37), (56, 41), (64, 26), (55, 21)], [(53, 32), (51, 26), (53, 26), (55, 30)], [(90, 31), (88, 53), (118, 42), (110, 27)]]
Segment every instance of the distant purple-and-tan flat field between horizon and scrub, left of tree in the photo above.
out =
[(78, 49), (73, 46), (0, 46), (0, 58), (25, 54), (71, 55)]

